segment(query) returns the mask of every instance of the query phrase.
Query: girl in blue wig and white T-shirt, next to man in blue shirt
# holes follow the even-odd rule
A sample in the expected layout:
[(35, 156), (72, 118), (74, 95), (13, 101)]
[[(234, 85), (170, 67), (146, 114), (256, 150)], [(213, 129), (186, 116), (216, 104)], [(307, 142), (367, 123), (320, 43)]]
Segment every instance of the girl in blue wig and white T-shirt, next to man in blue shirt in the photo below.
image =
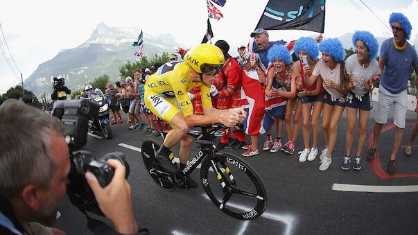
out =
[(361, 152), (365, 146), (367, 123), (369, 123), (370, 110), (373, 107), (372, 101), (372, 80), (379, 77), (377, 55), (378, 42), (376, 38), (367, 31), (356, 31), (353, 35), (353, 45), (356, 47), (356, 54), (350, 55), (345, 60), (345, 69), (351, 82), (347, 86), (349, 94), (345, 99), (347, 114), (347, 132), (345, 134), (345, 157), (341, 164), (342, 170), (347, 171), (351, 165), (351, 146), (353, 146), (354, 132), (357, 123), (358, 110), (358, 145), (356, 157), (354, 157), (353, 169), (361, 169)]

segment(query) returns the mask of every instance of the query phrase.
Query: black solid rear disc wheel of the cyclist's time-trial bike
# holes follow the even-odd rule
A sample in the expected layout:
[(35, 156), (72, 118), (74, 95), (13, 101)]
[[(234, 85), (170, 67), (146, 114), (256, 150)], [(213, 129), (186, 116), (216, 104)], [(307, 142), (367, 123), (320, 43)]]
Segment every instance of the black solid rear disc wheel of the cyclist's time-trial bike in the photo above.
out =
[(175, 179), (171, 173), (167, 173), (164, 168), (155, 160), (155, 153), (159, 150), (159, 143), (154, 139), (145, 139), (141, 146), (143, 164), (154, 182), (167, 191), (175, 189)]

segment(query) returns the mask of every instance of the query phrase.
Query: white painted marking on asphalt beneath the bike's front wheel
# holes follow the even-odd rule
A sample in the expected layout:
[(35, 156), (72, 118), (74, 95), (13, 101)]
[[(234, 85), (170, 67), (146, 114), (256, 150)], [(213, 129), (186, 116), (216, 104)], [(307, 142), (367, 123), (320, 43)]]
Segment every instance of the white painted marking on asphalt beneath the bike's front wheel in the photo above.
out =
[[(210, 198), (207, 196), (207, 194), (202, 194), (203, 198), (210, 200)], [(239, 204), (234, 204), (234, 203), (227, 203), (228, 207), (234, 207), (236, 209), (239, 210), (245, 210), (245, 211), (250, 211), (250, 207), (245, 207)], [(263, 214), (261, 214), (260, 217), (263, 218), (268, 218), (270, 220), (275, 220), (277, 222), (281, 222), (284, 223), (284, 225), (286, 225), (285, 229), (284, 229), (284, 234), (292, 234), (292, 229), (293, 227), (295, 227), (295, 216), (291, 215), (291, 214), (277, 214), (277, 213), (272, 213), (272, 212), (268, 212), (268, 211), (264, 211)], [(250, 221), (250, 220), (247, 220)], [(245, 228), (243, 228), (245, 227)], [(240, 228), (240, 230), (238, 231), (238, 234), (243, 234), (243, 232), (245, 232), (245, 229), (247, 229), (247, 224), (243, 224)]]

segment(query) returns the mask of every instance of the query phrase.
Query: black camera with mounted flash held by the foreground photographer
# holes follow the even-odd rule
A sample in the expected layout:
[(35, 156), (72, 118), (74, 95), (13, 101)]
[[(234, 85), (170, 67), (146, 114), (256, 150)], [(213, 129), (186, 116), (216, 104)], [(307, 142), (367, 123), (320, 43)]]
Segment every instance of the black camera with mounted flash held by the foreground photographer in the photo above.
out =
[(82, 150), (87, 143), (89, 119), (97, 118), (98, 105), (89, 100), (56, 101), (52, 111), (53, 116), (61, 119), (64, 124), (65, 141), (69, 146), (71, 170), (70, 183), (67, 185), (67, 194), (81, 211), (90, 211), (103, 216), (98, 207), (96, 198), (89, 184), (85, 180), (85, 173), (93, 173), (102, 187), (112, 181), (114, 168), (107, 164), (107, 159), (119, 160), (126, 168), (125, 177), (128, 178), (130, 168), (123, 153), (108, 153), (96, 159), (92, 153)]

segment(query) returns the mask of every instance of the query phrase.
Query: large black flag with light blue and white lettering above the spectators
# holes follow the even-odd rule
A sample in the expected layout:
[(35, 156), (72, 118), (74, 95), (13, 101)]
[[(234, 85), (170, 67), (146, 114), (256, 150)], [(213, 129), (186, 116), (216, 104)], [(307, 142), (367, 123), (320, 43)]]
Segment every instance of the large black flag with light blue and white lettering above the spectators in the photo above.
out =
[(325, 0), (269, 0), (256, 28), (324, 33)]

